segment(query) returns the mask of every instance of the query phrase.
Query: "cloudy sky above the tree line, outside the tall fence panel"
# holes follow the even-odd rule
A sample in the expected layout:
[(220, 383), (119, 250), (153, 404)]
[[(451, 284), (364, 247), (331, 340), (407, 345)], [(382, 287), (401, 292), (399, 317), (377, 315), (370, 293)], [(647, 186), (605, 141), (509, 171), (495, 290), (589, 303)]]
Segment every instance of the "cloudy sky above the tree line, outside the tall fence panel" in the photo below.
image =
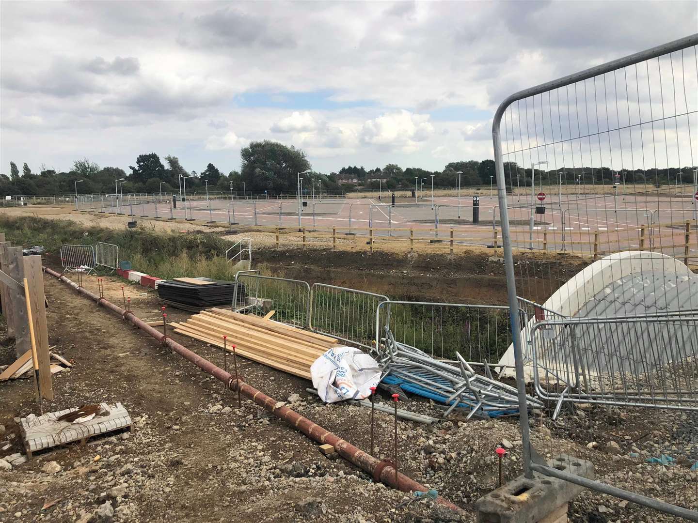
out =
[(491, 158), (519, 89), (695, 33), (690, 1), (0, 3), (0, 172), (239, 169), (251, 140), (315, 169)]

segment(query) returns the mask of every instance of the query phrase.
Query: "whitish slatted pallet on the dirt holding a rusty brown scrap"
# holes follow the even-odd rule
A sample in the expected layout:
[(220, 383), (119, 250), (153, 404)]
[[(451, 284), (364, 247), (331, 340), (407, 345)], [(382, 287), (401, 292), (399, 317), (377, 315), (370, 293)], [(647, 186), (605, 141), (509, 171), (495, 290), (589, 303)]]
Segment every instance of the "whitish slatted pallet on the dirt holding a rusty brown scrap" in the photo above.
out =
[(65, 409), (57, 412), (49, 412), (43, 416), (27, 416), (20, 420), (22, 443), (27, 450), (27, 457), (31, 459), (34, 453), (47, 450), (52, 447), (80, 442), (87, 443), (88, 439), (124, 430), (133, 430), (131, 415), (121, 403), (107, 405), (102, 403), (103, 409), (107, 409), (106, 416), (95, 416), (91, 420), (80, 423), (59, 421), (57, 418), (73, 412), (76, 409)]

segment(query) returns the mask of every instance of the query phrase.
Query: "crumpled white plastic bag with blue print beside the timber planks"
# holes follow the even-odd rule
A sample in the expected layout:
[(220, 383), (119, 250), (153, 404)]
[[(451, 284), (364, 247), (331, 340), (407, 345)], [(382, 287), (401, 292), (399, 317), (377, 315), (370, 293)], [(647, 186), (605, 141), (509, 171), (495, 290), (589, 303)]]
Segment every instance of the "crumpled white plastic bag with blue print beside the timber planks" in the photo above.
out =
[(329, 349), (313, 362), (310, 373), (325, 403), (363, 400), (380, 379), (378, 363), (354, 347)]

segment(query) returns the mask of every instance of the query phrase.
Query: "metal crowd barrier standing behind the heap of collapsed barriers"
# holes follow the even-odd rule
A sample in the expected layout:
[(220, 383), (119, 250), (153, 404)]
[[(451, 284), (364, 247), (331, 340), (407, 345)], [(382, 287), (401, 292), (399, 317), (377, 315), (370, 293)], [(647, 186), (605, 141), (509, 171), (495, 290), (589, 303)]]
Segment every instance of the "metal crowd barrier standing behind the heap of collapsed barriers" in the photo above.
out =
[[(496, 363), (511, 343), (509, 308), (413, 301), (385, 301), (377, 308), (376, 324), (384, 321), (396, 342), (435, 358), (468, 363)], [(376, 331), (376, 346), (381, 342)]]

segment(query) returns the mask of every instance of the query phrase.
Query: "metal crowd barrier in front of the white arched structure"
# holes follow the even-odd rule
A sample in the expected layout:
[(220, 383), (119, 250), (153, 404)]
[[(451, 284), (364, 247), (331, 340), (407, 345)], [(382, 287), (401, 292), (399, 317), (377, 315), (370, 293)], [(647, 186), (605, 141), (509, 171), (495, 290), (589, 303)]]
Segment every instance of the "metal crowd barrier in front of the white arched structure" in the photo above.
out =
[(698, 410), (698, 311), (685, 317), (535, 324), (535, 389), (545, 400)]

